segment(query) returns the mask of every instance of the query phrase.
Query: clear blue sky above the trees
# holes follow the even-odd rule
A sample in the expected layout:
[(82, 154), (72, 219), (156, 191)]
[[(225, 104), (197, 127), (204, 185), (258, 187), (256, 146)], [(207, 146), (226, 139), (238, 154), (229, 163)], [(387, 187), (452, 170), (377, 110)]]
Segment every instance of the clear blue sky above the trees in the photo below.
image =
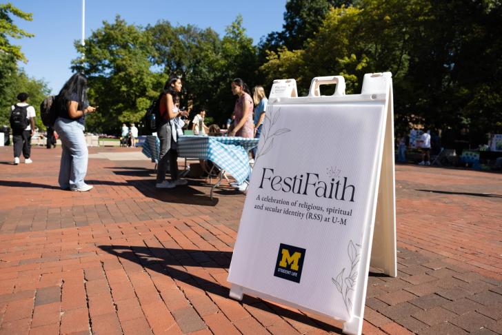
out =
[[(28, 63), (20, 63), (30, 77), (43, 79), (54, 93), (59, 92), (71, 75), (70, 61), (77, 57), (73, 46), (81, 38), (81, 0), (16, 0), (10, 1), (33, 21), (14, 19), (19, 28), (35, 34), (31, 39), (12, 40), (21, 45)], [(139, 26), (160, 19), (173, 25), (188, 23), (199, 28), (211, 27), (221, 36), (238, 14), (254, 43), (269, 32), (281, 30), (286, 0), (86, 0), (86, 37), (114, 21), (117, 14), (128, 23)]]

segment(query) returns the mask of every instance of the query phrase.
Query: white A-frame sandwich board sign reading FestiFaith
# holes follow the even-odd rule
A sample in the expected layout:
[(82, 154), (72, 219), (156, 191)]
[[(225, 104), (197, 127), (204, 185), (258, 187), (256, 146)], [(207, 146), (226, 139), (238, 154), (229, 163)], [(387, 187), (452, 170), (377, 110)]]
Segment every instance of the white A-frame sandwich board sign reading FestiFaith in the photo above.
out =
[[(319, 86), (336, 83), (332, 96)], [(278, 88), (279, 87), (279, 88)], [(361, 334), (370, 263), (396, 276), (392, 77), (274, 81), (228, 281)], [(374, 243), (372, 243), (374, 242)]]

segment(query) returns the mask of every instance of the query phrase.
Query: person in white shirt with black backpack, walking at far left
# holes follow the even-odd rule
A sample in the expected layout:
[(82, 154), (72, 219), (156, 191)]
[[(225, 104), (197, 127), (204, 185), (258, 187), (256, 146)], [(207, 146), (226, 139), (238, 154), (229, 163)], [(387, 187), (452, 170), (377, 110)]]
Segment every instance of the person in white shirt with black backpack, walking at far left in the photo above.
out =
[(12, 140), (14, 141), (14, 164), (19, 164), (21, 150), (24, 163), (30, 164), (31, 137), (35, 131), (35, 109), (29, 105), (28, 93), (17, 94), (19, 103), (12, 105), (10, 112), (10, 128), (12, 128)]

